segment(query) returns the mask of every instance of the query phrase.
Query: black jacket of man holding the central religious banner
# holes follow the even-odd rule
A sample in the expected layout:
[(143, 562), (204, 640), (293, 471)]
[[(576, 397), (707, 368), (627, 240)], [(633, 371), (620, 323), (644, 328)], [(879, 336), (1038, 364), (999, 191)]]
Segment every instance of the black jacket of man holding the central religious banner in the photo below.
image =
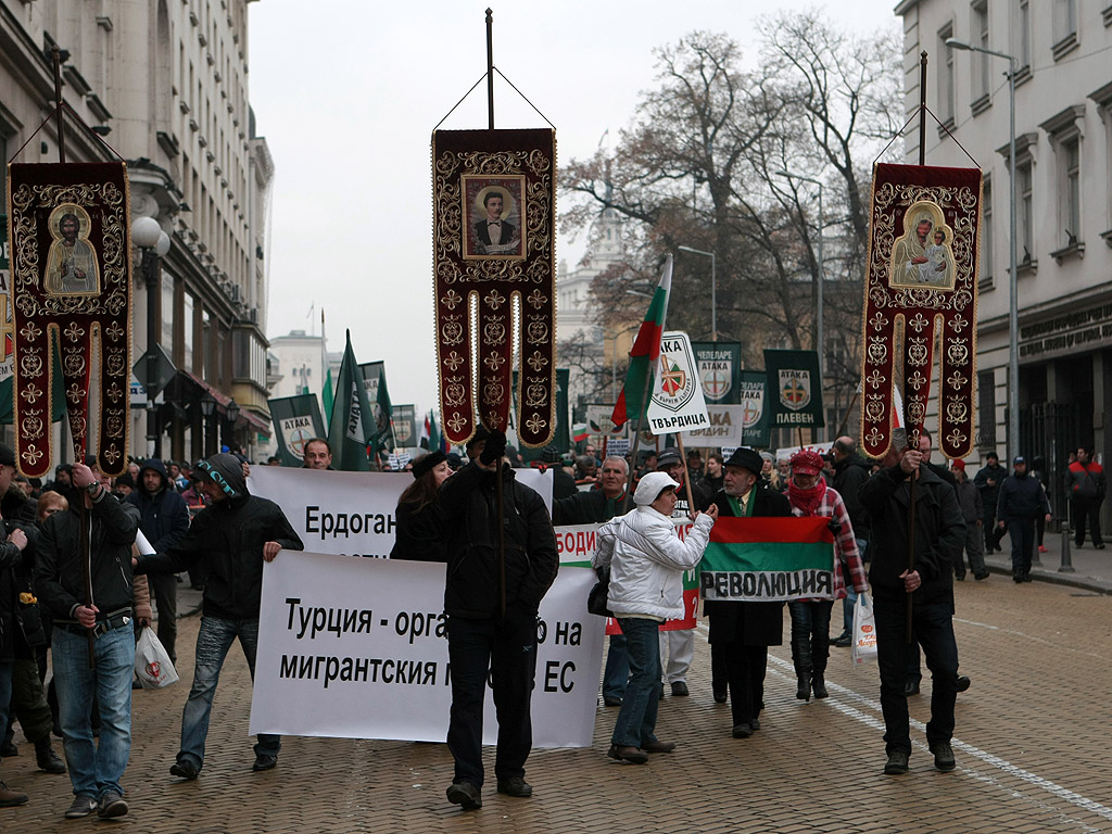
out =
[[(496, 473), (471, 463), (440, 487), (448, 563), (444, 610), (449, 616), (500, 616)], [(544, 499), (514, 470), (502, 470), (506, 610), (535, 613), (556, 578), (556, 534)]]

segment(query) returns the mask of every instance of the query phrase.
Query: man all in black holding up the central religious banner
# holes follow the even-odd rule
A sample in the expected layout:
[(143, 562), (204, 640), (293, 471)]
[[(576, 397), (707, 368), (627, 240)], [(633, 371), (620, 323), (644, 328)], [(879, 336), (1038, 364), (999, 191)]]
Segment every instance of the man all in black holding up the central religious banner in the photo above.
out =
[[(492, 431), (468, 447), (471, 463), (440, 487), (448, 562), (444, 613), (451, 663), (448, 749), (456, 761), (447, 796), (464, 810), (483, 806), (483, 699), (488, 674), (498, 714), (494, 765), (498, 793), (533, 794), (525, 781), (525, 759), (533, 746), (529, 698), (537, 665), (537, 608), (559, 563), (544, 499), (519, 484), (508, 465), (503, 466), (505, 450), (506, 435)], [(502, 517), (496, 492), (499, 467)]]

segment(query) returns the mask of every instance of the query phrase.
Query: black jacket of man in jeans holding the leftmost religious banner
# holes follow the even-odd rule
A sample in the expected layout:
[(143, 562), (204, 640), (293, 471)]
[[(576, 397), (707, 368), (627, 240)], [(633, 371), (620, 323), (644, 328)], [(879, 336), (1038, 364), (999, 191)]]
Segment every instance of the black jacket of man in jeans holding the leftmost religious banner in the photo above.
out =
[[(78, 515), (81, 500), (81, 494), (75, 493), (70, 508), (50, 516), (39, 538), (34, 590), (54, 622), (73, 622), (73, 609), (85, 605)], [(100, 499), (87, 512), (91, 520), (92, 600), (100, 618), (133, 605), (131, 545), (139, 529), (139, 510), (101, 492)]]

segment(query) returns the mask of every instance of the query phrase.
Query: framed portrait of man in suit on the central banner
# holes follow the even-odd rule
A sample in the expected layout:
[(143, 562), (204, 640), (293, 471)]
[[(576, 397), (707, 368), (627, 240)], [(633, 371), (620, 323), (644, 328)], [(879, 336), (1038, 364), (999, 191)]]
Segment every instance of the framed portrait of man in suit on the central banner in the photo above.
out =
[(463, 175), (464, 258), (525, 259), (525, 177)]

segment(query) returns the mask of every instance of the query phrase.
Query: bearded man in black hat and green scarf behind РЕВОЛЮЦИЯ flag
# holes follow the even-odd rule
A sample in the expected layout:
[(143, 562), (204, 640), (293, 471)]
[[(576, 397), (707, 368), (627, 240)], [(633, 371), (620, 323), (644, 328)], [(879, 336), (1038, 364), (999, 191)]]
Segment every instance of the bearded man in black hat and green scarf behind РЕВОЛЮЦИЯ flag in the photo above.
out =
[[(718, 505), (719, 517), (792, 515), (787, 498), (761, 477), (763, 466), (753, 449), (734, 450), (724, 467), (725, 485), (708, 502)], [(707, 600), (703, 610), (711, 620), (712, 681), (726, 682), (733, 736), (747, 738), (761, 727), (768, 646), (784, 642), (784, 604)]]

